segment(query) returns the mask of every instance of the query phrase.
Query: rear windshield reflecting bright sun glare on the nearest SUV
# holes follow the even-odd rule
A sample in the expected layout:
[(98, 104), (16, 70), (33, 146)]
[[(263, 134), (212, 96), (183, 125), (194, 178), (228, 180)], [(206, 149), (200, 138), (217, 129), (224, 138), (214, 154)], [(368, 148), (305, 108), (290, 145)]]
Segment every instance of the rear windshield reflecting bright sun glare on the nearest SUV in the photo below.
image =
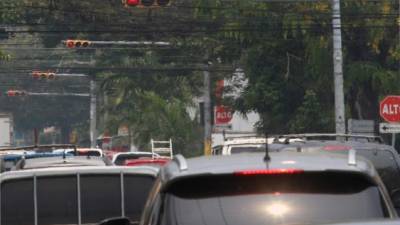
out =
[(388, 217), (379, 189), (356, 174), (204, 176), (166, 191), (161, 224), (320, 224)]

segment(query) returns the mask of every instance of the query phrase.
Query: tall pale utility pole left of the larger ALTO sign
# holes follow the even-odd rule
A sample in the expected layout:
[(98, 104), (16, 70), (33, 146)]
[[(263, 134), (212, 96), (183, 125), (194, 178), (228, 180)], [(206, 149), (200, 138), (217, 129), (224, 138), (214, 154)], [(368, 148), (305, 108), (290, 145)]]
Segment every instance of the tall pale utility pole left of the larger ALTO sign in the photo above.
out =
[(336, 133), (346, 133), (343, 93), (343, 53), (340, 17), (340, 0), (332, 0), (333, 25), (333, 73), (335, 78), (335, 123)]

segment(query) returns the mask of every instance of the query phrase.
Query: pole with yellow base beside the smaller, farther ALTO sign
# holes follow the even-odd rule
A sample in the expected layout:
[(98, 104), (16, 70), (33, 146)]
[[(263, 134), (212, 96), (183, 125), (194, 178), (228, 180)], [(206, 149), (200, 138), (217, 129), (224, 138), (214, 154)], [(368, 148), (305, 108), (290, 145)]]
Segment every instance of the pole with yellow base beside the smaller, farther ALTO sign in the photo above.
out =
[(210, 99), (210, 72), (207, 69), (204, 75), (204, 155), (211, 155), (211, 99)]

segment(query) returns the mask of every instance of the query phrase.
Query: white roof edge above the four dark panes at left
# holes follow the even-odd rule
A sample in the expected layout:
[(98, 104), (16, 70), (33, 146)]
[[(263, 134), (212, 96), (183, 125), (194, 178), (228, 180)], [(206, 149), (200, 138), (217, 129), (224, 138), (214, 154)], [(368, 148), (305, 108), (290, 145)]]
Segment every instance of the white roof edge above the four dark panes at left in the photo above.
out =
[(31, 170), (8, 171), (0, 174), (0, 182), (12, 179), (23, 179), (40, 176), (65, 176), (75, 174), (142, 174), (156, 177), (159, 169), (151, 166), (87, 166), (87, 167), (58, 167)]

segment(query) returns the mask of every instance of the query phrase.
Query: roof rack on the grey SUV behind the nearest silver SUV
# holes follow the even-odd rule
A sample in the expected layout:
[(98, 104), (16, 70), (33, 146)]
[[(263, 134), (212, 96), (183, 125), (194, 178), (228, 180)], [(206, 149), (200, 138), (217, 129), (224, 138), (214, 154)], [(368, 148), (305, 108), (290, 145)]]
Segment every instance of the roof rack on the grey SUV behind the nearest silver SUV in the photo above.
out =
[[(304, 140), (332, 140), (332, 138), (342, 138), (345, 140), (350, 139), (365, 139), (368, 142), (375, 143), (383, 143), (383, 139), (379, 136), (368, 136), (368, 135), (354, 135), (354, 134), (318, 134), (318, 133), (309, 133), (309, 134), (288, 134), (288, 135), (278, 135), (275, 136), (275, 142), (279, 143), (289, 143), (290, 139), (304, 139)], [(279, 139), (284, 139), (284, 141), (280, 141)]]

